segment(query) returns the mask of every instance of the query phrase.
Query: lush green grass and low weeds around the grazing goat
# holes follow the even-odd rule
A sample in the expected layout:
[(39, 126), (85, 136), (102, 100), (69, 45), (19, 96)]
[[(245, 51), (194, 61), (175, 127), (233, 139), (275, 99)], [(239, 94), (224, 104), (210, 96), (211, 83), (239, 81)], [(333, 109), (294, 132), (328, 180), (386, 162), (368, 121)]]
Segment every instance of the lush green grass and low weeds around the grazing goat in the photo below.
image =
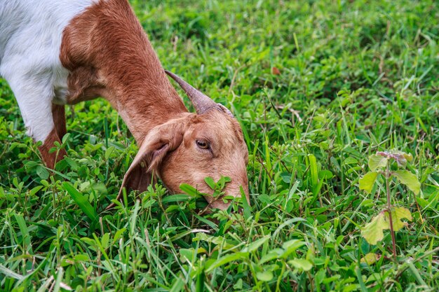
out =
[[(104, 211), (137, 150), (116, 111), (68, 109), (51, 173), (0, 80), (0, 291), (437, 291), (437, 1), (131, 3), (163, 67), (240, 120), (250, 212), (198, 216), (161, 186)], [(360, 234), (386, 193), (358, 180), (391, 149), (421, 182), (417, 196), (391, 183), (413, 216), (397, 263), (388, 230)]]

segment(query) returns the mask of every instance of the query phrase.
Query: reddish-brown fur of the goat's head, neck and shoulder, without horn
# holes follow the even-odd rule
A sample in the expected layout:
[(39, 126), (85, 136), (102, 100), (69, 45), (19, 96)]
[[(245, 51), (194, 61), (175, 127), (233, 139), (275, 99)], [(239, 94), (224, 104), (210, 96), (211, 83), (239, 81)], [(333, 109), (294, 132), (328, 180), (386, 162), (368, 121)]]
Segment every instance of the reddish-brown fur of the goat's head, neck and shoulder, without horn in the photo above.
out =
[[(227, 193), (240, 195), (242, 185), (248, 197), (248, 150), (238, 122), (217, 109), (187, 112), (128, 1), (100, 1), (74, 18), (63, 34), (60, 59), (71, 71), (67, 102), (104, 97), (140, 146), (123, 187), (145, 190), (154, 172), (171, 192), (191, 183), (210, 193), (205, 176), (226, 175), (232, 179)], [(212, 151), (197, 148), (197, 139), (210, 141)], [(228, 205), (206, 199), (212, 207)]]

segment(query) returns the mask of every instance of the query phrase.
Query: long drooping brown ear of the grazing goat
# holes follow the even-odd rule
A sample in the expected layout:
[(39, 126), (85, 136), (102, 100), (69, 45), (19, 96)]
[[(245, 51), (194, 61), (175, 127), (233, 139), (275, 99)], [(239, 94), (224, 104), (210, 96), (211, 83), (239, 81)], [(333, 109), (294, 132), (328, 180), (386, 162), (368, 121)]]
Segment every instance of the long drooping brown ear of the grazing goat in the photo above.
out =
[[(158, 169), (163, 158), (169, 151), (175, 150), (183, 140), (185, 123), (166, 123), (151, 130), (140, 146), (139, 152), (135, 155), (125, 176), (119, 195), (116, 200), (121, 200), (123, 188), (126, 190), (147, 190), (154, 180), (152, 172)], [(114, 207), (109, 204), (107, 209)]]

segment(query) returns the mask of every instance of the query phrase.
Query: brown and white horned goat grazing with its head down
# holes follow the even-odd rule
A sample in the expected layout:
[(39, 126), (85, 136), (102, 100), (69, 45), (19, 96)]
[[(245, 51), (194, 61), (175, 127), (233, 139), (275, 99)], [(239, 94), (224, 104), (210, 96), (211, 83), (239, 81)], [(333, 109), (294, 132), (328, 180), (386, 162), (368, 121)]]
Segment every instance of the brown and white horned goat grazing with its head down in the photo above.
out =
[[(166, 74), (191, 99), (189, 113)], [(66, 133), (65, 104), (104, 97), (133, 134), (139, 152), (122, 188), (146, 190), (158, 176), (172, 193), (181, 183), (212, 193), (204, 178), (229, 176), (227, 195), (248, 200), (248, 149), (241, 127), (221, 104), (164, 71), (128, 0), (0, 2), (0, 75), (8, 81), (28, 134), (42, 141), (48, 167)], [(221, 198), (206, 196), (225, 209)]]

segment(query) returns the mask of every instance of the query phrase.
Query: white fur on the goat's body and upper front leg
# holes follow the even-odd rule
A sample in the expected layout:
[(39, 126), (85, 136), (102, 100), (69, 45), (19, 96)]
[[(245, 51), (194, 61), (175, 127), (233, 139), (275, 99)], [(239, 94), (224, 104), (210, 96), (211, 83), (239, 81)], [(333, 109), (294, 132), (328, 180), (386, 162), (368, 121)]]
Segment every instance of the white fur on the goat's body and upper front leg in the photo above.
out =
[(0, 76), (35, 141), (53, 130), (52, 102), (65, 103), (69, 72), (60, 62), (62, 32), (95, 1), (0, 0)]

